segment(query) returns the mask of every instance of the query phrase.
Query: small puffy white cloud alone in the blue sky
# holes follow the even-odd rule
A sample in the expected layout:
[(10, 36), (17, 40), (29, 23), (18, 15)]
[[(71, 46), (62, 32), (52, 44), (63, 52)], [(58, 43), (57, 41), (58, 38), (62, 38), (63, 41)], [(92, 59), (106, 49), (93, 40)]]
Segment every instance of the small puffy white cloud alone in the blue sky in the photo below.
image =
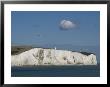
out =
[(73, 23), (70, 20), (62, 20), (60, 22), (60, 28), (64, 30), (73, 29), (75, 26), (76, 26), (75, 23)]

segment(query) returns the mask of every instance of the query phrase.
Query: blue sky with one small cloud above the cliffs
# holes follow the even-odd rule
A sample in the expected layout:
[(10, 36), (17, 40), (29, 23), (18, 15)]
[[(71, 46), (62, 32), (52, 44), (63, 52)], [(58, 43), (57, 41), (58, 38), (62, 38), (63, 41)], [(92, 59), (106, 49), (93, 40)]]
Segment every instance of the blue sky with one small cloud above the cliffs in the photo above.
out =
[(12, 11), (12, 44), (99, 46), (98, 11)]

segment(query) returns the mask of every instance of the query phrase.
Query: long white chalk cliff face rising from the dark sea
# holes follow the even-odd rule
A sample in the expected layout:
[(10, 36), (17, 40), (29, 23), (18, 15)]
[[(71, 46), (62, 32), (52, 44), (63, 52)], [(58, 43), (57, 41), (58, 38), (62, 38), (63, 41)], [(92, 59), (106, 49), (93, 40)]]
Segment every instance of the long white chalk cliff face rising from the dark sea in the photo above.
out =
[(11, 56), (12, 66), (23, 65), (96, 65), (96, 55), (67, 50), (34, 48)]

